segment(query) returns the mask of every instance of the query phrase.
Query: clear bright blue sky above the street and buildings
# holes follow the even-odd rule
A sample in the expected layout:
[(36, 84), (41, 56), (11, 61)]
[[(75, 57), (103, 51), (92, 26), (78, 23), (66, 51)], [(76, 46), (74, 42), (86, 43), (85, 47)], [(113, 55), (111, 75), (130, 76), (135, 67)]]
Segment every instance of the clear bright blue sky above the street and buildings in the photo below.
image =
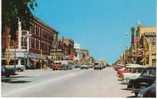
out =
[(96, 59), (113, 63), (130, 46), (130, 28), (155, 26), (155, 0), (37, 0), (34, 15), (88, 49)]

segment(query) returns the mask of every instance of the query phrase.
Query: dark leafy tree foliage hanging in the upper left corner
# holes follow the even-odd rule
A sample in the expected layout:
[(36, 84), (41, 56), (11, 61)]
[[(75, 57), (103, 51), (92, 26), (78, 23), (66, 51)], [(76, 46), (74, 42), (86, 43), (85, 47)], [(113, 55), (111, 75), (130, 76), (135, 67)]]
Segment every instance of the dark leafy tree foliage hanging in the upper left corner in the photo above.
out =
[(29, 29), (36, 6), (36, 0), (2, 0), (2, 32), (10, 29), (11, 37), (15, 39), (17, 17), (21, 19), (23, 28)]

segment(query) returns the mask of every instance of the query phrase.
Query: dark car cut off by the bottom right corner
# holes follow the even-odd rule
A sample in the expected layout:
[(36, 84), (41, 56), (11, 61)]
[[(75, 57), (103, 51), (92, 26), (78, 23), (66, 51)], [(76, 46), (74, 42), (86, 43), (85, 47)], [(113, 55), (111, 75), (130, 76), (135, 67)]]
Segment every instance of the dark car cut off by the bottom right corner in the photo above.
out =
[(156, 97), (156, 82), (147, 88), (141, 89), (138, 93), (138, 97)]

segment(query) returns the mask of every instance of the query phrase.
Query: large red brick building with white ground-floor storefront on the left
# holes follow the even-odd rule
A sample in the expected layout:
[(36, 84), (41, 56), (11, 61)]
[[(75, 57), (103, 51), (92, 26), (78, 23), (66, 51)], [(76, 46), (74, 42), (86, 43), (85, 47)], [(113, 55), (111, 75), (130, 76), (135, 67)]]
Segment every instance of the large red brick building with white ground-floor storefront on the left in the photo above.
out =
[[(23, 30), (22, 23), (18, 22), (15, 41), (8, 42), (9, 33), (3, 33), (2, 46), (3, 49), (9, 49), (7, 53), (12, 53), (10, 57), (16, 59), (19, 65), (32, 65), (38, 68), (40, 62), (47, 62), (49, 59), (50, 49), (58, 33), (36, 17), (33, 17), (31, 23), (30, 30)], [(2, 57), (5, 59), (6, 55), (3, 54)]]

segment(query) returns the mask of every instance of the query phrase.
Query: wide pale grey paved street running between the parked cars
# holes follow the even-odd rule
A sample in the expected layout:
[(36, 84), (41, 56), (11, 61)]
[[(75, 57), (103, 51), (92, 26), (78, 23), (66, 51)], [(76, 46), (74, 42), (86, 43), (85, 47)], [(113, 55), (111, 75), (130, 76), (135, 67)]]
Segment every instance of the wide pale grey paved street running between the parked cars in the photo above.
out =
[(2, 83), (2, 96), (18, 97), (128, 97), (112, 68), (104, 70), (26, 71)]

